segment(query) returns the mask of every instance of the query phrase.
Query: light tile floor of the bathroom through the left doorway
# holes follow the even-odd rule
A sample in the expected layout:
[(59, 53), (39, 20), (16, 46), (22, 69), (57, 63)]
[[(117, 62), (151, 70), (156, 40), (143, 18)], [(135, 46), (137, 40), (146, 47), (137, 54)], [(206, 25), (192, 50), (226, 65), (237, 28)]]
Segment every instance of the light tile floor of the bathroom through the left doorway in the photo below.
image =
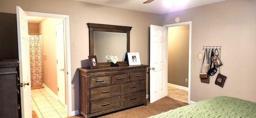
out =
[(32, 110), (38, 118), (66, 118), (65, 107), (58, 102), (45, 88), (31, 90)]

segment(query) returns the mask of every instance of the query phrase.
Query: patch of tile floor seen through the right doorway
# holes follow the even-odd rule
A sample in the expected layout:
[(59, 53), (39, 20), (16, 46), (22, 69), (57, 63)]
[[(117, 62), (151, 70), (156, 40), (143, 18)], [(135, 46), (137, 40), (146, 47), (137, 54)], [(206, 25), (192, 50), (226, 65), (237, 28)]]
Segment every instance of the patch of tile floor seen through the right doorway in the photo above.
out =
[(188, 91), (168, 86), (168, 96), (174, 100), (188, 103)]

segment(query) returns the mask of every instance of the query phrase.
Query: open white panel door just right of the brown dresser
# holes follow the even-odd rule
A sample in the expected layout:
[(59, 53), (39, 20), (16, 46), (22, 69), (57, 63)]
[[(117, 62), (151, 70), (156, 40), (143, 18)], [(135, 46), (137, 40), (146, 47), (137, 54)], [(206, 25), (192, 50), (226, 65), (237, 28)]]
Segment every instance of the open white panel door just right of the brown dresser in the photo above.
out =
[(150, 25), (150, 103), (168, 94), (168, 30)]

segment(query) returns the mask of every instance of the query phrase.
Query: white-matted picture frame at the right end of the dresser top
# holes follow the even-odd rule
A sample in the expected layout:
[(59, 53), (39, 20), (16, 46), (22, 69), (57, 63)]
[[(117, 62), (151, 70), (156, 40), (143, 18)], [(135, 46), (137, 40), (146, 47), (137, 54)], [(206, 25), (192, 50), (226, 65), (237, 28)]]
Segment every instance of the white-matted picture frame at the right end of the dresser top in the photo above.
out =
[(140, 54), (138, 52), (127, 53), (129, 65), (141, 65)]

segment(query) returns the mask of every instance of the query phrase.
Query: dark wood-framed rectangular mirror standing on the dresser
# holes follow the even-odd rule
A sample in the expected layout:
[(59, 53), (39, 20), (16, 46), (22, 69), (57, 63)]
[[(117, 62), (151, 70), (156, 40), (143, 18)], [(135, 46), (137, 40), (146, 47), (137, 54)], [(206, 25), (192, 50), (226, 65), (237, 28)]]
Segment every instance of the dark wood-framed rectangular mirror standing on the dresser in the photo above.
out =
[(99, 65), (109, 65), (106, 55), (117, 55), (118, 63), (126, 64), (125, 53), (130, 52), (132, 27), (87, 23), (89, 55), (96, 55)]

